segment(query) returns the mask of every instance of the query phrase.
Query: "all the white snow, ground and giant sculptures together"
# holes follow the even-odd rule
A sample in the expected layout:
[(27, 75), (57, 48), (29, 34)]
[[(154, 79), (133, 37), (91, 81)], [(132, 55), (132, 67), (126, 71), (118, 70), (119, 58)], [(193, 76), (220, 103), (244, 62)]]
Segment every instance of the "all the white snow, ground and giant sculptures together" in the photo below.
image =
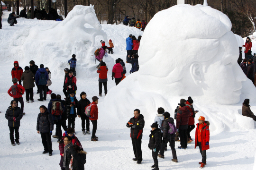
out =
[[(77, 7), (78, 8), (78, 7)], [(81, 9), (82, 7), (79, 7)], [(88, 7), (89, 8), (89, 7)], [(90, 7), (91, 8), (91, 7)], [(93, 9), (90, 9), (93, 11)], [(88, 9), (89, 11), (89, 9)], [(77, 13), (77, 11), (73, 11)], [(72, 14), (72, 13), (70, 13)], [(174, 109), (181, 98), (192, 96), (196, 118), (204, 116), (210, 121), (210, 150), (207, 150), (208, 170), (251, 170), (255, 157), (255, 129), (251, 118), (241, 115), (242, 102), (251, 99), (251, 110), (256, 112), (255, 87), (238, 67), (238, 41), (230, 31), (229, 18), (210, 7), (178, 5), (158, 12), (149, 22), (144, 34), (136, 28), (123, 25), (100, 25), (98, 21), (86, 23), (83, 17), (74, 15), (68, 22), (83, 21), (82, 31), (74, 32), (72, 26), (57, 21), (43, 21), (18, 18), (18, 24), (10, 27), (7, 23), (9, 12), (5, 11), (0, 30), (0, 140), (1, 169), (6, 170), (57, 170), (60, 169), (57, 139), (52, 138), (53, 156), (43, 155), (41, 136), (37, 134), (36, 120), (39, 94), (34, 88), (34, 103), (26, 103), (26, 115), (19, 128), (20, 145), (11, 146), (8, 121), (5, 110), (12, 98), (7, 91), (12, 85), (11, 69), (18, 60), (23, 69), (33, 59), (36, 64), (44, 64), (52, 72), (53, 93), (61, 94), (64, 68), (69, 68), (67, 60), (77, 54), (77, 93), (85, 91), (87, 98), (98, 95), (98, 62), (91, 54), (101, 46), (100, 40), (108, 45), (114, 43), (114, 55), (104, 58), (108, 61), (108, 94), (100, 97), (99, 119), (96, 135), (98, 142), (91, 142), (91, 135), (82, 135), (81, 119), (76, 118), (75, 131), (84, 150), (88, 152), (85, 169), (93, 170), (149, 170), (153, 165), (152, 151), (148, 149), (151, 125), (158, 107), (165, 108), (174, 116)], [(93, 12), (91, 15), (94, 15)], [(92, 16), (93, 17), (93, 16)], [(74, 20), (77, 19), (77, 20)], [(166, 20), (170, 22), (166, 22)], [(163, 22), (160, 22), (163, 21)], [(159, 26), (160, 25), (160, 26)], [(99, 26), (99, 25), (98, 25)], [(91, 30), (90, 30), (90, 29)], [(94, 40), (90, 38), (93, 29)], [(97, 30), (97, 31), (96, 31)], [(170, 31), (171, 30), (171, 31)], [(96, 35), (97, 32), (97, 35)], [(52, 36), (49, 36), (51, 34)], [(80, 38), (86, 34), (84, 41)], [(92, 33), (93, 34), (93, 33)], [(126, 60), (126, 42), (129, 34), (142, 35), (139, 48), (140, 70), (126, 74), (118, 86), (111, 80), (114, 60)], [(107, 40), (106, 40), (107, 39)], [(91, 44), (95, 41), (95, 44)], [(255, 44), (253, 42), (253, 44)], [(93, 50), (92, 50), (93, 49)], [(253, 50), (254, 50), (253, 46)], [(103, 59), (103, 60), (104, 60)], [(130, 64), (126, 64), (129, 71)], [(234, 91), (236, 90), (236, 91)], [(247, 91), (247, 93), (246, 93)], [(23, 96), (24, 101), (25, 95)], [(227, 105), (232, 104), (232, 105)], [(140, 109), (145, 118), (142, 138), (143, 161), (137, 165), (130, 139), (130, 129), (126, 127), (133, 117), (133, 110)], [(197, 122), (197, 120), (196, 120)], [(92, 125), (90, 125), (92, 131)], [(53, 134), (55, 133), (55, 130)], [(195, 129), (191, 132), (194, 139)], [(175, 148), (180, 146), (175, 143)], [(176, 149), (178, 163), (171, 161), (170, 147), (165, 159), (158, 159), (160, 170), (194, 170), (201, 161), (199, 148), (194, 149), (194, 141), (186, 150)]]

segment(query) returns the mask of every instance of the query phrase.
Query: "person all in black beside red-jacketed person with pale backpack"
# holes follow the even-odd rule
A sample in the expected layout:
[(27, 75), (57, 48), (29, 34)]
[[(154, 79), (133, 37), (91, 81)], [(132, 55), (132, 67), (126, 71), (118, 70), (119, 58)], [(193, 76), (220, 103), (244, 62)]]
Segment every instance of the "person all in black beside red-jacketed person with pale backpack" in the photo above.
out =
[[(90, 119), (85, 115), (84, 109), (86, 106), (91, 104), (91, 102), (86, 98), (86, 93), (82, 92), (80, 94), (80, 101), (77, 103), (77, 116), (82, 120), (82, 134), (90, 134)], [(85, 132), (85, 120), (86, 120), (86, 132)]]

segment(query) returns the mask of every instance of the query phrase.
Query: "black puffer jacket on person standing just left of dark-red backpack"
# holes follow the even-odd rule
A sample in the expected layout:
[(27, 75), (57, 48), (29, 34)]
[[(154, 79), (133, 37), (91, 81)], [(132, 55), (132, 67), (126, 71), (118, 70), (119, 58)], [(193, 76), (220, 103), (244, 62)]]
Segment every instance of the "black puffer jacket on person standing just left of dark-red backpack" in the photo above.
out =
[(37, 131), (41, 133), (49, 133), (54, 129), (54, 122), (52, 114), (49, 113), (48, 109), (44, 113), (39, 113), (37, 117)]

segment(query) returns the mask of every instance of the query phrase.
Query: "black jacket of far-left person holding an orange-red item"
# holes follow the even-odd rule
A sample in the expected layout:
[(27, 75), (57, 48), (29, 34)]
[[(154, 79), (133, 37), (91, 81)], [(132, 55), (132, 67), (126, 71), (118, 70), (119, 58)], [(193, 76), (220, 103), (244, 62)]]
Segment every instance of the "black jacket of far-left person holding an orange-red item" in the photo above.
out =
[[(13, 120), (13, 117), (16, 118), (16, 121)], [(9, 127), (19, 127), (20, 119), (22, 119), (22, 111), (19, 107), (12, 108), (11, 106), (6, 110), (5, 118), (8, 120)]]

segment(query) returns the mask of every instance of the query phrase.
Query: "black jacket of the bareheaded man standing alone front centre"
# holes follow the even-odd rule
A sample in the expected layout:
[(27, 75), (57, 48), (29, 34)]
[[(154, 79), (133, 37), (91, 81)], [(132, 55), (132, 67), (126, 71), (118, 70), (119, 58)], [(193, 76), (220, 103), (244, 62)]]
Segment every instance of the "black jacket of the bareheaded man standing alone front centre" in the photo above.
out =
[[(130, 134), (131, 138), (141, 139), (142, 138), (142, 133), (143, 133), (143, 128), (144, 128), (144, 125), (145, 125), (144, 116), (142, 114), (140, 114), (137, 119), (132, 117), (129, 120), (129, 122), (132, 123), (132, 125), (129, 125), (127, 123), (126, 126), (131, 128), (131, 134)], [(135, 128), (132, 127), (133, 125), (135, 125)]]

